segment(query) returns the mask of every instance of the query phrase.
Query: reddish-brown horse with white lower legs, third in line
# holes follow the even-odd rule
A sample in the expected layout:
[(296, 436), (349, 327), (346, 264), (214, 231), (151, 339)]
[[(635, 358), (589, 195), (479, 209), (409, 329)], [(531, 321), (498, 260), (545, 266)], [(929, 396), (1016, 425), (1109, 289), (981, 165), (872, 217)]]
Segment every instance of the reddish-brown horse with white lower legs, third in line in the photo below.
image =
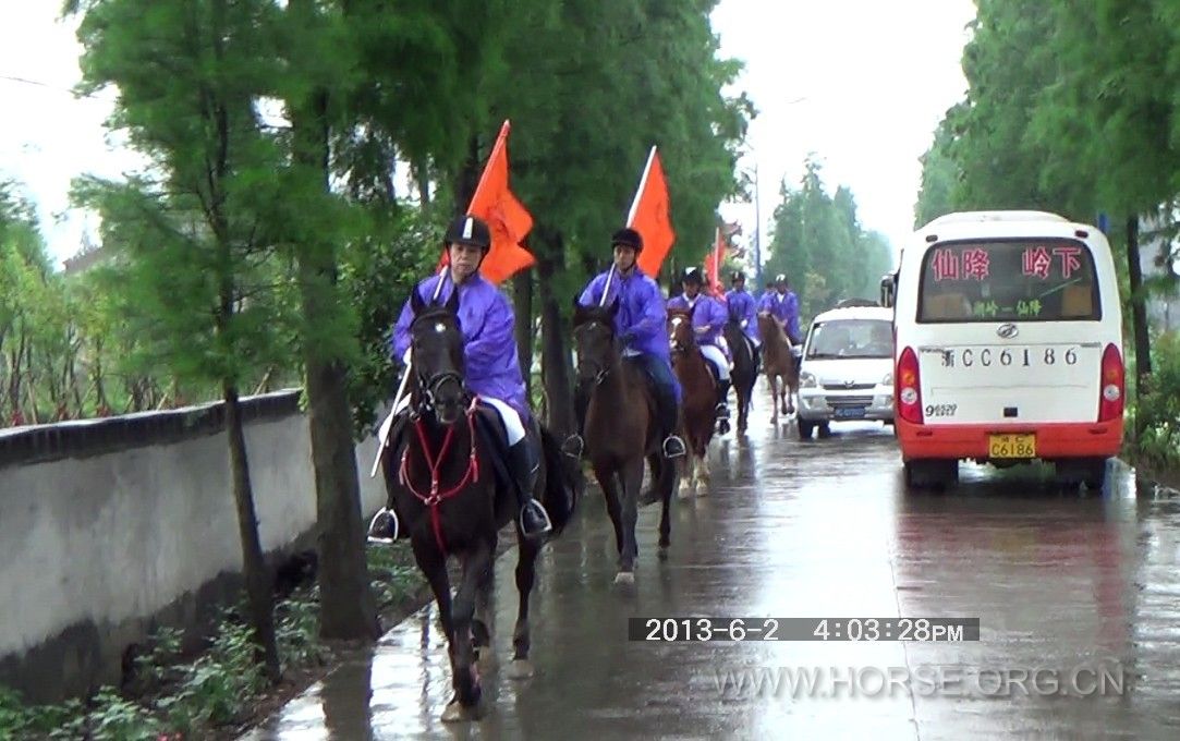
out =
[(684, 457), (680, 496), (704, 494), (709, 488), (709, 441), (717, 424), (717, 386), (701, 354), (693, 332), (693, 313), (668, 309), (668, 339), (671, 342), (671, 368), (683, 393)]

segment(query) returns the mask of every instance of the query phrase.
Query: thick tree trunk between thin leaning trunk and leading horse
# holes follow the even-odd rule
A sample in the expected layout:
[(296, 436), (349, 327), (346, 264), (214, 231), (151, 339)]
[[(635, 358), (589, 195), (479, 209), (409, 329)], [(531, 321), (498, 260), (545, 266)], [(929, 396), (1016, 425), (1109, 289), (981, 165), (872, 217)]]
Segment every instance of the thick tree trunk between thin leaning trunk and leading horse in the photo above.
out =
[[(316, 11), (310, 0), (301, 0), (290, 2), (288, 12), (314, 22)], [(290, 106), (295, 162), (315, 169), (324, 192), (329, 191), (327, 106), (328, 93), (322, 88)], [(336, 250), (315, 235), (302, 236), (297, 260), (303, 321), (330, 324), (340, 306)], [(381, 631), (365, 553), (347, 368), (306, 332), (303, 360), (319, 525), (320, 635), (328, 640), (375, 641)]]

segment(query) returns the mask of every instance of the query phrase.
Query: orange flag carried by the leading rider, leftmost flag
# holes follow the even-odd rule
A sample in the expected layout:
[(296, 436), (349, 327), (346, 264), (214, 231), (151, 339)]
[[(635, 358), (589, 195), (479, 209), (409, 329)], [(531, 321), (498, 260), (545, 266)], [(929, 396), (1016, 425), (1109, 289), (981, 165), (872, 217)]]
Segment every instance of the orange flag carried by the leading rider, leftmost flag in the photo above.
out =
[[(492, 232), (492, 248), (479, 264), (479, 273), (491, 283), (499, 286), (519, 270), (536, 264), (532, 253), (520, 247), (525, 235), (532, 229), (532, 215), (509, 189), (509, 130), (507, 120), (500, 126), (492, 153), (479, 176), (479, 184), (471, 197), (467, 214), (487, 222)], [(447, 264), (446, 251), (439, 267)]]

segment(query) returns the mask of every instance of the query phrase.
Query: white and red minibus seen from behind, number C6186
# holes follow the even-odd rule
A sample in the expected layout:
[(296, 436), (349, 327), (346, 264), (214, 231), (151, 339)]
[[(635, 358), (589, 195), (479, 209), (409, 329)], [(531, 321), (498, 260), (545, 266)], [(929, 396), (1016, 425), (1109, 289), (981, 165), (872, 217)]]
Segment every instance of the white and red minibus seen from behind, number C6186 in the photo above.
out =
[(1123, 435), (1122, 312), (1106, 236), (1041, 211), (943, 216), (903, 250), (896, 431), (906, 481), (958, 461), (1056, 465), (1099, 488)]

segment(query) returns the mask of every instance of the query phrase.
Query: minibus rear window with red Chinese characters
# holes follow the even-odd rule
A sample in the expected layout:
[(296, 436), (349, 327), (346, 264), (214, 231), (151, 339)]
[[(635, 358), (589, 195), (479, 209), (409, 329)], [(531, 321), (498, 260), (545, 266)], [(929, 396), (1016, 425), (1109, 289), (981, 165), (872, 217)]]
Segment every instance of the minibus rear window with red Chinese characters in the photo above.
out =
[(953, 242), (926, 251), (919, 322), (1100, 319), (1094, 258), (1081, 242)]

